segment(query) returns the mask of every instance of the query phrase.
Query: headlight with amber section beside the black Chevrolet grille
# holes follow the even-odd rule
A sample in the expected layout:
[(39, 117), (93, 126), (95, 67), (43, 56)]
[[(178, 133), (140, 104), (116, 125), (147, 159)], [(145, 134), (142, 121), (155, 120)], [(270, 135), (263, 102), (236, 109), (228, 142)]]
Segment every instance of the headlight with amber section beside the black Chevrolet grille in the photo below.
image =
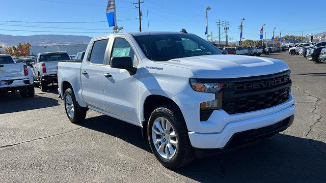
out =
[(189, 80), (189, 83), (196, 92), (218, 94), (218, 93), (224, 92), (228, 88), (227, 83), (197, 82), (197, 80), (194, 78), (191, 78)]

